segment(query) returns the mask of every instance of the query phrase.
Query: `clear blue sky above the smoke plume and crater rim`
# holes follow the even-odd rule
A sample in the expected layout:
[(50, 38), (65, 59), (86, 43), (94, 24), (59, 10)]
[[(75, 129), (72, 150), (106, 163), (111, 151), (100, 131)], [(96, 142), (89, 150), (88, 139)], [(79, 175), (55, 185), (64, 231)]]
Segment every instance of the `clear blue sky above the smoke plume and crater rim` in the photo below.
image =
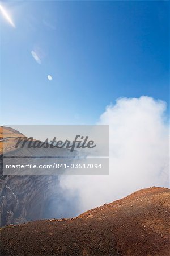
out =
[(3, 125), (91, 125), (119, 97), (169, 104), (169, 2), (1, 4), (16, 26), (1, 15)]

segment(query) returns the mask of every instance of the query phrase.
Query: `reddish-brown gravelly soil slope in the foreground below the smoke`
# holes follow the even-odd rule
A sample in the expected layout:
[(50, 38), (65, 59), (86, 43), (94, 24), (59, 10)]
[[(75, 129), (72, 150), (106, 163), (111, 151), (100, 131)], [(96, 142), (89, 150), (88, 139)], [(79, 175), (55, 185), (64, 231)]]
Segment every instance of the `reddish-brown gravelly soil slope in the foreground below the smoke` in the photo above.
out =
[(147, 188), (77, 218), (1, 229), (1, 255), (170, 255), (168, 188)]

